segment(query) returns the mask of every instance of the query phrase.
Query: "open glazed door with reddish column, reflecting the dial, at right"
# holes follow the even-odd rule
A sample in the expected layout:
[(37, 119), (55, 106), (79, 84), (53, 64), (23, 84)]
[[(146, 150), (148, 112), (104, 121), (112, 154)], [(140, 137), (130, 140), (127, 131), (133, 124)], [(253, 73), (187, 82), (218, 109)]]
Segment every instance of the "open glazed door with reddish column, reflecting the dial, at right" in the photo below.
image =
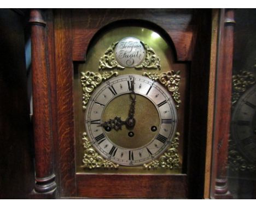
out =
[(214, 199), (256, 198), (255, 13), (220, 10), (210, 194)]

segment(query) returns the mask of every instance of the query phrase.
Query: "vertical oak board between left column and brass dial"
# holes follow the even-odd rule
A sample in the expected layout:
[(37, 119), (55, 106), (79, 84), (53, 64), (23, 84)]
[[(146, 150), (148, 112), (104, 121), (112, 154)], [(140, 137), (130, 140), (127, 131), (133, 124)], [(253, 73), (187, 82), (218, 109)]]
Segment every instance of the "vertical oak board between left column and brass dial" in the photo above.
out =
[(75, 196), (73, 62), (71, 10), (54, 11), (57, 169), (60, 195)]

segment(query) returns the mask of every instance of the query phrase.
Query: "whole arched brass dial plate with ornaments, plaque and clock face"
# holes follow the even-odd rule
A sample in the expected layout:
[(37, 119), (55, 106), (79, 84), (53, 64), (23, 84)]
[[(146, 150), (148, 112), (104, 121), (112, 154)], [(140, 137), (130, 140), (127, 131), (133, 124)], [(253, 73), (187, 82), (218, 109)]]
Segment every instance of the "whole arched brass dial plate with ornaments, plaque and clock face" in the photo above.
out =
[(90, 48), (93, 56), (79, 66), (79, 172), (181, 173), (181, 71), (168, 71), (167, 46), (154, 30), (120, 27)]

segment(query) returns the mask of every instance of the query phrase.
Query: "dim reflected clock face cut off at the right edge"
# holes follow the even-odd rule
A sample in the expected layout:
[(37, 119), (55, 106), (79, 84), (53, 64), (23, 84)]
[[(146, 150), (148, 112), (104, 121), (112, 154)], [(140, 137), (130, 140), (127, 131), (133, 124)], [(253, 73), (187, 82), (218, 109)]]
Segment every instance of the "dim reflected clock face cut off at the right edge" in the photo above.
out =
[(248, 161), (256, 162), (256, 85), (238, 100), (231, 131), (240, 152)]

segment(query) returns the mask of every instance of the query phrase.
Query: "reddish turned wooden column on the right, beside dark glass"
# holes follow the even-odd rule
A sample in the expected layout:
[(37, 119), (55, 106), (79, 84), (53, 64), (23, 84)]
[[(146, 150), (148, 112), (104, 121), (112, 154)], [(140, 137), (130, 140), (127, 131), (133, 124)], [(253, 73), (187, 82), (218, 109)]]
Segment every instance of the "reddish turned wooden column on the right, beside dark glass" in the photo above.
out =
[(231, 198), (228, 191), (226, 166), (228, 160), (228, 140), (230, 136), (234, 23), (234, 10), (222, 10), (220, 13), (216, 114), (214, 119), (215, 198)]

